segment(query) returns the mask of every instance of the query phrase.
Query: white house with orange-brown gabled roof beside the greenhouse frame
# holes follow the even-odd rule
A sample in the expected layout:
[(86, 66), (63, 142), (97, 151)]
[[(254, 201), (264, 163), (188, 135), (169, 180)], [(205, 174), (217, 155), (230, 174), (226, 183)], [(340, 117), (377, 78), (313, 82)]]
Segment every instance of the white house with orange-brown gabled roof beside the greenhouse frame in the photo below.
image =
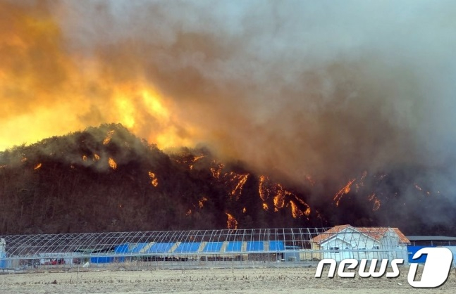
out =
[(312, 249), (321, 251), (321, 258), (337, 261), (346, 258), (372, 260), (403, 258), (407, 260), (410, 241), (398, 228), (334, 226), (312, 238)]

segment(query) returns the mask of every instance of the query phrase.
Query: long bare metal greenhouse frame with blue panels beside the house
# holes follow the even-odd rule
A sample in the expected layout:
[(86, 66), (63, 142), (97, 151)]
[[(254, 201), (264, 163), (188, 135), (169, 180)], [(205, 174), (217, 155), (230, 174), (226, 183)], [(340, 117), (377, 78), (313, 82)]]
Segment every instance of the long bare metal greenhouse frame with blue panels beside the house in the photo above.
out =
[[(332, 238), (334, 233), (330, 232), (328, 228), (288, 228), (0, 236), (0, 271), (49, 267), (302, 266), (318, 262), (327, 253), (335, 254), (334, 250), (315, 244), (318, 236)], [(356, 243), (354, 236), (342, 234), (338, 238)], [(386, 251), (363, 250), (376, 252), (377, 256)], [(407, 256), (404, 250), (399, 251)]]

